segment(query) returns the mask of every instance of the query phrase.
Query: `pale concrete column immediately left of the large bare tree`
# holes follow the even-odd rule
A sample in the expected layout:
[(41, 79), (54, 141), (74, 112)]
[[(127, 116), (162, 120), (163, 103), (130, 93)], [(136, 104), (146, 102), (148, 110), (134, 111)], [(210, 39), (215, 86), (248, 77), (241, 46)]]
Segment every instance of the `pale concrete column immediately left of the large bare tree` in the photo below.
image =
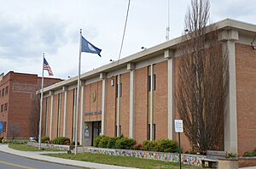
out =
[(167, 59), (167, 78), (168, 78), (168, 114), (167, 114), (167, 136), (172, 139), (173, 134), (173, 57), (174, 52), (170, 49), (165, 51), (165, 58)]

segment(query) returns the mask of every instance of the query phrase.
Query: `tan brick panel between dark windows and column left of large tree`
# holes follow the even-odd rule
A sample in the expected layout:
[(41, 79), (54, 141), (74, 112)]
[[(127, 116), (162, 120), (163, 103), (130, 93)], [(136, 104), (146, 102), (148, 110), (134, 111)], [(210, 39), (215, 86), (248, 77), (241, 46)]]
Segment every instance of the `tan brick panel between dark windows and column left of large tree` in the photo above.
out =
[(154, 65), (156, 87), (154, 91), (155, 139), (167, 138), (167, 62)]

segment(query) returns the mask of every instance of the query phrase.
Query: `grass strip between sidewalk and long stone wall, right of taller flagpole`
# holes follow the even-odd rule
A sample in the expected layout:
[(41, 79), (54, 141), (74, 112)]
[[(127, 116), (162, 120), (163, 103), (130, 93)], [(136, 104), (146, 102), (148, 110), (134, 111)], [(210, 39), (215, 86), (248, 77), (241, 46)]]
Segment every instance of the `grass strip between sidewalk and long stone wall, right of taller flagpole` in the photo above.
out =
[[(49, 155), (49, 154), (48, 154)], [(101, 154), (50, 154), (49, 156), (76, 160), (76, 161), (87, 161), (87, 162), (95, 162), (102, 163), (114, 166), (129, 166), (129, 167), (137, 167), (137, 168), (179, 168), (178, 163), (164, 162), (164, 161), (152, 161), (152, 160), (144, 160), (135, 157), (128, 156), (112, 156), (112, 155), (101, 155)], [(188, 166), (183, 165), (183, 168), (201, 168), (198, 166)]]

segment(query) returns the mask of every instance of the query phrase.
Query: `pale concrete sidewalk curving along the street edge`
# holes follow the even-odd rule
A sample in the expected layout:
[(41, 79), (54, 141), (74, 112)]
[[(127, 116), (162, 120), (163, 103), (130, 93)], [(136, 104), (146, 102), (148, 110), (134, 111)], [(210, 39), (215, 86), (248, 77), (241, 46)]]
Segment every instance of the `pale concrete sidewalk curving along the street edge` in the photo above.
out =
[(84, 161), (73, 161), (68, 159), (61, 159), (56, 157), (50, 157), (43, 154), (50, 154), (50, 153), (63, 153), (60, 151), (19, 151), (15, 149), (9, 149), (8, 144), (0, 144), (0, 151), (9, 153), (12, 155), (19, 155), (29, 159), (38, 160), (38, 161), (47, 161), (56, 164), (64, 164), (67, 166), (78, 166), (78, 167), (87, 167), (87, 168), (96, 168), (96, 169), (132, 169), (131, 167), (125, 166), (111, 166), (99, 163), (92, 163), (92, 162), (84, 162)]

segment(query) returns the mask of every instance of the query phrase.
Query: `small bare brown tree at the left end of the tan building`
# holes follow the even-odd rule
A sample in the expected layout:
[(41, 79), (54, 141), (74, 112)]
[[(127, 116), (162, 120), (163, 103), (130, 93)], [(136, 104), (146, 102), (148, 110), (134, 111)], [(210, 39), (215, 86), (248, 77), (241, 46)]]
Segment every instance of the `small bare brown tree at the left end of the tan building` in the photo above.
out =
[(39, 134), (39, 119), (40, 118), (40, 99), (38, 95), (33, 94), (32, 110), (29, 116), (29, 133), (30, 136), (38, 138)]

